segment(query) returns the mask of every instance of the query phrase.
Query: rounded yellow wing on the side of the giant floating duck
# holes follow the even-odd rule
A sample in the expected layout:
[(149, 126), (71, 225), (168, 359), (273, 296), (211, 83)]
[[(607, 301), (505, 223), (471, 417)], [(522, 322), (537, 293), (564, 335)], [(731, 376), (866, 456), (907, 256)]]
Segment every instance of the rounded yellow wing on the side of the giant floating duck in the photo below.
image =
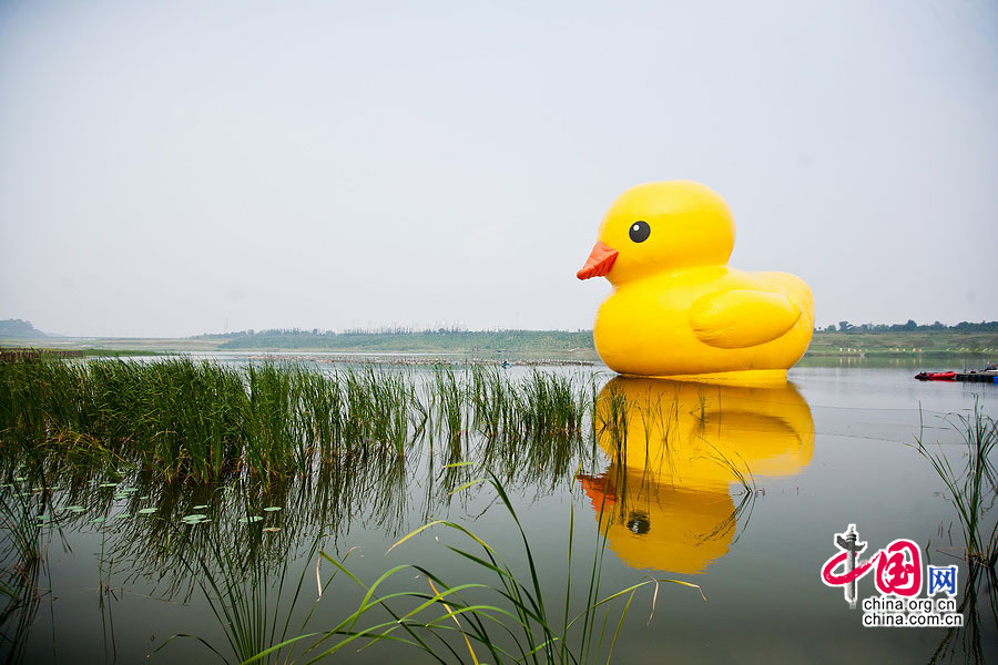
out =
[(801, 318), (801, 308), (784, 294), (729, 290), (693, 303), (690, 326), (700, 341), (722, 349), (765, 344), (783, 336)]

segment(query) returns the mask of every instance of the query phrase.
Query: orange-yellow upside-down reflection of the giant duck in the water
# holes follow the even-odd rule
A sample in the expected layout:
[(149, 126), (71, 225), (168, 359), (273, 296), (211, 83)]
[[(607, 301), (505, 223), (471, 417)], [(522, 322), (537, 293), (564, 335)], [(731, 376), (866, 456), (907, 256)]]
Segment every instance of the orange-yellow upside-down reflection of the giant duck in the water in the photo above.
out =
[(598, 398), (597, 440), (610, 467), (579, 481), (610, 549), (634, 567), (694, 574), (734, 542), (755, 479), (811, 462), (814, 422), (788, 382), (617, 377)]

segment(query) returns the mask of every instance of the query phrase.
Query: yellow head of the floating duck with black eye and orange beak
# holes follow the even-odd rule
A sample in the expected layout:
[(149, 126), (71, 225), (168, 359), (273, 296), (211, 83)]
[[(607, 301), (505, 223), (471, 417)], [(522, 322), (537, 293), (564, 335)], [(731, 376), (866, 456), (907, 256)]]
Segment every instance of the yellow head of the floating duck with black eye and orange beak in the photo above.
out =
[(692, 181), (645, 183), (617, 197), (579, 279), (613, 285), (653, 273), (721, 266), (734, 248), (735, 227), (721, 196)]

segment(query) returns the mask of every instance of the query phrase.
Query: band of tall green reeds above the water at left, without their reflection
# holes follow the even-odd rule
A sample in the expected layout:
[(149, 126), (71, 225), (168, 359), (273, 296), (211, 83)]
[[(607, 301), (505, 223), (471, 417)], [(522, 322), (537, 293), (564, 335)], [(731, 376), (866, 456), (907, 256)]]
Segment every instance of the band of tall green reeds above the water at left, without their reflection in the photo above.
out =
[(449, 461), (467, 454), (472, 436), (507, 452), (584, 438), (593, 397), (577, 378), (512, 380), (481, 368), (429, 376), (186, 358), (3, 364), (0, 442), (224, 481), (309, 473), (344, 453), (405, 456), (425, 437), (446, 443)]

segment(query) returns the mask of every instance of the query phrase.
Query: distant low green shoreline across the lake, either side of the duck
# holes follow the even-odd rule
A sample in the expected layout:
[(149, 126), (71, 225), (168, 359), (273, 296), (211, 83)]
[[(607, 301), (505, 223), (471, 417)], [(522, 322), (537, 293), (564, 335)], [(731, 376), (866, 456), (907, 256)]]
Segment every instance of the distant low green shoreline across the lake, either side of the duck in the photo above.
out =
[[(43, 335), (43, 334), (42, 334)], [(31, 348), (83, 351), (84, 356), (153, 355), (165, 352), (343, 354), (356, 358), (345, 361), (386, 361), (398, 354), (438, 355), (458, 358), (492, 359), (523, 364), (599, 362), (591, 330), (464, 330), (439, 328), (413, 330), (273, 329), (242, 330), (231, 334), (200, 335), (187, 338), (73, 338), (41, 336), (4, 338), (0, 348)], [(385, 355), (386, 358), (371, 358)], [(998, 357), (998, 321), (960, 323), (956, 326), (915, 321), (894, 326), (842, 321), (814, 332), (805, 358), (958, 358)], [(411, 358), (408, 364), (413, 362)], [(432, 362), (439, 362), (435, 359)], [(445, 359), (446, 361), (446, 359)]]

